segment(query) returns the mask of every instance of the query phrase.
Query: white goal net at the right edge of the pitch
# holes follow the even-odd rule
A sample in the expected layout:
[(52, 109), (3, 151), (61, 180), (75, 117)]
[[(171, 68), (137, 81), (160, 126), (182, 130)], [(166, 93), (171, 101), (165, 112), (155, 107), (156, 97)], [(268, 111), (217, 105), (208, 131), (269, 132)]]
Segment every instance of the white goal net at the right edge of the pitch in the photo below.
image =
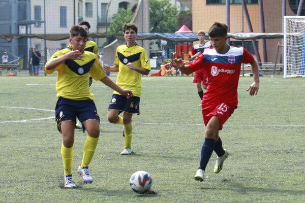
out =
[(305, 77), (305, 16), (284, 16), (284, 78)]

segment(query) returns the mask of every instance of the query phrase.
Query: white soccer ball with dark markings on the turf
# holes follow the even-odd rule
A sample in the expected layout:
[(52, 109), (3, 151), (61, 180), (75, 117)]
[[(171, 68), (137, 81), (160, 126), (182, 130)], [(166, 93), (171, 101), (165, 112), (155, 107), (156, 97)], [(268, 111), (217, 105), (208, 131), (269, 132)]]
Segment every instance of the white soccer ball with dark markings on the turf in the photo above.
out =
[(153, 178), (147, 172), (137, 171), (131, 176), (129, 183), (134, 192), (145, 193), (153, 185)]

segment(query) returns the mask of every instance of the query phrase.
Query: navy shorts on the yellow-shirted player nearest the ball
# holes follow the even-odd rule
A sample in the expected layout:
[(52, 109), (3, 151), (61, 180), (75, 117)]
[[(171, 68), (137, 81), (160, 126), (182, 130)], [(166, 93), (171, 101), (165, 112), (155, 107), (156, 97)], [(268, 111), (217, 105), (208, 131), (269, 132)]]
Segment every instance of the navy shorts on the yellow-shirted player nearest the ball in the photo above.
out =
[[(100, 123), (100, 117), (93, 100), (72, 100), (69, 98), (59, 97), (55, 107), (55, 120), (57, 129), (60, 133), (60, 123), (63, 121), (73, 121), (76, 123), (76, 117), (82, 123), (94, 119)], [(83, 131), (85, 130), (84, 125)]]

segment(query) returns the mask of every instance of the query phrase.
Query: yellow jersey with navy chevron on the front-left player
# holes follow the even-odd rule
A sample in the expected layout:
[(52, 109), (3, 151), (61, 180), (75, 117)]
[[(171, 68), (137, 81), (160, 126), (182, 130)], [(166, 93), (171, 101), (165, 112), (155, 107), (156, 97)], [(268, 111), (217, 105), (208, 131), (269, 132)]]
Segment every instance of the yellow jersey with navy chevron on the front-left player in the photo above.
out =
[[(47, 63), (71, 50), (67, 48), (57, 51)], [(57, 71), (57, 97), (62, 96), (74, 100), (94, 100), (94, 95), (90, 92), (89, 88), (89, 76), (95, 80), (101, 80), (106, 77), (97, 56), (88, 51), (83, 52), (83, 57), (80, 60), (66, 60), (55, 67), (55, 69), (45, 69), (46, 74), (52, 74), (54, 71)]]

